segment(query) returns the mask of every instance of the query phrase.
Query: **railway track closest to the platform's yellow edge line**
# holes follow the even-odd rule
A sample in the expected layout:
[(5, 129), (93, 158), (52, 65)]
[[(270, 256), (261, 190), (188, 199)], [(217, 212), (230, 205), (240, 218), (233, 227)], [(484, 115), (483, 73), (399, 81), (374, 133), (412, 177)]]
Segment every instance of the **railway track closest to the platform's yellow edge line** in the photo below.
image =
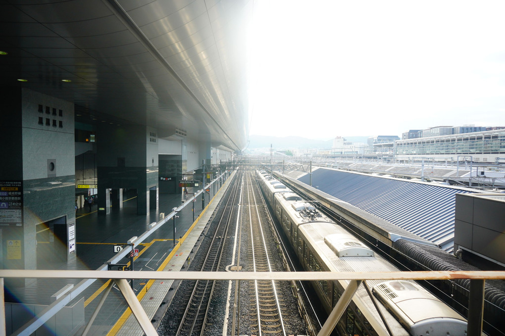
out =
[[(201, 271), (217, 271), (219, 269), (225, 238), (228, 235), (230, 223), (234, 222), (236, 212), (233, 205), (240, 193), (238, 184), (234, 184), (232, 192), (226, 200), (225, 210), (219, 219), (217, 229), (212, 238), (212, 243), (205, 257)], [(194, 282), (188, 304), (182, 314), (182, 319), (177, 328), (176, 335), (203, 335), (207, 316), (209, 314), (210, 302), (214, 292), (216, 282), (198, 280)], [(183, 301), (186, 302), (186, 301)]]

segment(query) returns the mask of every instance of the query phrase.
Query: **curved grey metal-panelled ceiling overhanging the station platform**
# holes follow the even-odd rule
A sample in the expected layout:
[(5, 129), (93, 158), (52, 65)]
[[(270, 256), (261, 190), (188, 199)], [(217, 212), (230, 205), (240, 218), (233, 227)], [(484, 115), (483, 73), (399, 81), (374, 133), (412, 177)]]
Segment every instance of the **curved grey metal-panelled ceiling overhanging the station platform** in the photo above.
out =
[(241, 149), (251, 18), (249, 0), (0, 0), (0, 82)]

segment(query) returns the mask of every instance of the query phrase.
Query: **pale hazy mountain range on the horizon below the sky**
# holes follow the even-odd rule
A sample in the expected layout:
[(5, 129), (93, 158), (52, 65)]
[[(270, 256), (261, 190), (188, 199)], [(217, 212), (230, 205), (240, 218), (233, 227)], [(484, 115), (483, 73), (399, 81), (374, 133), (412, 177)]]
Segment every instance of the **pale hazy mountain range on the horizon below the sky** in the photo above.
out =
[[(344, 137), (349, 142), (367, 142), (368, 136)], [(297, 148), (331, 148), (333, 139), (313, 140), (302, 137), (272, 137), (265, 135), (249, 135), (247, 149), (270, 148), (270, 144), (276, 150), (297, 149)]]

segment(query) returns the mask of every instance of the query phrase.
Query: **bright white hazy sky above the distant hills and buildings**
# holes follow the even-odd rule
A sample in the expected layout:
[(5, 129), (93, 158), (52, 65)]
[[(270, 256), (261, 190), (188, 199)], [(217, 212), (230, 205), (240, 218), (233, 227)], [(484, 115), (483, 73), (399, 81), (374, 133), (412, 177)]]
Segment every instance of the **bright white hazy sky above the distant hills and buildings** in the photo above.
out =
[(505, 126), (505, 1), (255, 0), (250, 134)]

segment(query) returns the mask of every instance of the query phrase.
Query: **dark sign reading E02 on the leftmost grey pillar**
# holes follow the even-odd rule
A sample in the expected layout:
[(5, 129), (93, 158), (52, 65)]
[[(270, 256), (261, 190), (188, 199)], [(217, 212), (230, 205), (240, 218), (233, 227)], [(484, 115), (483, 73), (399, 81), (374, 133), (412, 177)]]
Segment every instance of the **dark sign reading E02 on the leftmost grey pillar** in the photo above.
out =
[(23, 181), (0, 181), (0, 227), (23, 226)]

